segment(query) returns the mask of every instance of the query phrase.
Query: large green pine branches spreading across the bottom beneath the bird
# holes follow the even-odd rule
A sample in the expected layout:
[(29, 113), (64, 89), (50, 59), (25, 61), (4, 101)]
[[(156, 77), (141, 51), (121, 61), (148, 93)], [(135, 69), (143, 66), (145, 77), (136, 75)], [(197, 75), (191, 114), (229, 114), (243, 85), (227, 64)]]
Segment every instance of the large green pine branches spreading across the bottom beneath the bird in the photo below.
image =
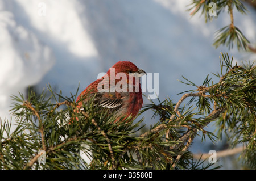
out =
[[(145, 105), (142, 115), (153, 110), (159, 117), (147, 131), (143, 119), (115, 122), (113, 115), (98, 111), (93, 98), (83, 105), (84, 111), (78, 110), (78, 89), (70, 98), (61, 91), (55, 94), (51, 86), (42, 94), (31, 90), (27, 99), (13, 96), (13, 120), (3, 120), (0, 126), (0, 168), (217, 169), (207, 160), (195, 161), (189, 149), (197, 136), (216, 142), (225, 133), (232, 147), (245, 145), (241, 159), (255, 169), (255, 66), (233, 65), (227, 54), (220, 64), (221, 72), (214, 74), (218, 83), (209, 75), (201, 86), (184, 78), (183, 83), (195, 89), (179, 102)], [(187, 98), (191, 100), (182, 106)], [(213, 121), (217, 136), (204, 129)], [(46, 151), (46, 164), (38, 162), (40, 150)]]

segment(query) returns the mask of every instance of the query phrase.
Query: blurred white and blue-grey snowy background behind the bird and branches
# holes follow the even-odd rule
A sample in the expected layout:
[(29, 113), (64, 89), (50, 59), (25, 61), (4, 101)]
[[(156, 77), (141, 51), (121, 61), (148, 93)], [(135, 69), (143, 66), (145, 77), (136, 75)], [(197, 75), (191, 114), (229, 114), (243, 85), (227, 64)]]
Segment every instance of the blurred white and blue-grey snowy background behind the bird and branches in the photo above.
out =
[[(220, 71), (220, 52), (237, 62), (256, 59), (236, 48), (215, 49), (214, 32), (230, 23), (228, 14), (205, 24), (204, 16), (186, 11), (190, 2), (0, 0), (0, 117), (10, 119), (10, 95), (26, 94), (28, 86), (42, 92), (50, 83), (70, 96), (120, 60), (159, 73), (159, 99), (177, 102), (177, 93), (193, 89), (177, 79), (184, 75), (201, 85)], [(234, 23), (255, 43), (256, 12), (247, 8), (247, 15), (234, 11)], [(147, 116), (145, 123), (154, 124)], [(199, 145), (195, 152), (202, 151)]]

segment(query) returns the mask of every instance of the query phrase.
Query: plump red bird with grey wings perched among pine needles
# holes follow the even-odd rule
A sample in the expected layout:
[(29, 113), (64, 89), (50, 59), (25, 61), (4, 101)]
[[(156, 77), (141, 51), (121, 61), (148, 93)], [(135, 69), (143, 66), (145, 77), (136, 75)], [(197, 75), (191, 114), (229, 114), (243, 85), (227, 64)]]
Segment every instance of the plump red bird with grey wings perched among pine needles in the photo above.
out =
[[(118, 121), (121, 117), (137, 116), (143, 105), (142, 90), (139, 77), (146, 74), (142, 69), (129, 61), (119, 61), (108, 72), (92, 82), (77, 97), (77, 107), (80, 110), (82, 104), (94, 96), (94, 103), (100, 106), (100, 111), (107, 115), (116, 116)], [(81, 100), (84, 99), (84, 100)]]

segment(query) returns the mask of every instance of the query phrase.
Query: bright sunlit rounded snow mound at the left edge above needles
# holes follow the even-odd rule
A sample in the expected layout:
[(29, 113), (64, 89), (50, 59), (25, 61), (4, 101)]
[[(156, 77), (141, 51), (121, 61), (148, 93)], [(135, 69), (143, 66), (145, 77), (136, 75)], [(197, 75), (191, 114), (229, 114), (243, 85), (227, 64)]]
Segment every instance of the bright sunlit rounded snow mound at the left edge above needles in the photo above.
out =
[[(0, 5), (4, 10), (3, 2)], [(16, 22), (10, 11), (0, 11), (0, 34), (0, 117), (10, 119), (10, 95), (38, 83), (54, 58), (51, 49)]]

